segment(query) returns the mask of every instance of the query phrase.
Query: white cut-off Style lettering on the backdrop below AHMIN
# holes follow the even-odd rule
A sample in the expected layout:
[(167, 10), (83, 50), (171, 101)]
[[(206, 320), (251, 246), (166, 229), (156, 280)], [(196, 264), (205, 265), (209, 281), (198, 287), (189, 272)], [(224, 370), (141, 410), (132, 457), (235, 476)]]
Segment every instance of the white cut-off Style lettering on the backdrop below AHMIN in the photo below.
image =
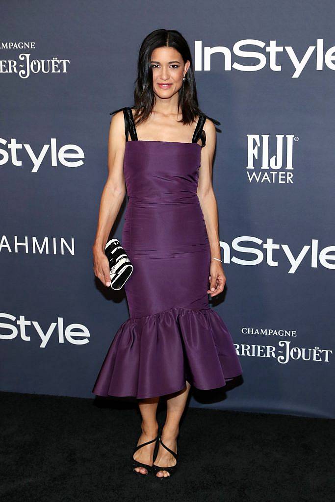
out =
[[(58, 343), (65, 341), (72, 345), (85, 345), (89, 342), (89, 331), (83, 324), (68, 324), (64, 326), (63, 317), (57, 317), (57, 322), (52, 322), (46, 332), (43, 331), (38, 321), (26, 320), (24, 315), (17, 319), (12, 314), (0, 313), (0, 320), (10, 322), (0, 322), (0, 340), (13, 340), (18, 336), (21, 340), (31, 341), (37, 339), (41, 341), (40, 348), (45, 348), (52, 337)], [(27, 330), (26, 327), (30, 328)], [(5, 330), (9, 330), (6, 333)]]

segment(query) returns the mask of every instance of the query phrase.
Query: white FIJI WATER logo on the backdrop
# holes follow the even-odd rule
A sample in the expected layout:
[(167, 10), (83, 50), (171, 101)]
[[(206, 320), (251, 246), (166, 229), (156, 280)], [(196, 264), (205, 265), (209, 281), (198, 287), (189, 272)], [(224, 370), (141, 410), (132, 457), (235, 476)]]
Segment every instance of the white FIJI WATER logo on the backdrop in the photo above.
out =
[[(275, 141), (276, 155), (273, 155), (270, 159), (270, 135), (247, 134), (247, 138), (248, 165), (246, 168), (250, 169), (250, 171), (247, 171), (250, 183), (253, 181), (256, 183), (293, 183), (293, 144), (299, 138), (286, 135), (284, 146), (284, 135), (277, 134)], [(257, 166), (255, 166), (255, 160), (259, 161)], [(256, 168), (257, 171), (255, 171)]]

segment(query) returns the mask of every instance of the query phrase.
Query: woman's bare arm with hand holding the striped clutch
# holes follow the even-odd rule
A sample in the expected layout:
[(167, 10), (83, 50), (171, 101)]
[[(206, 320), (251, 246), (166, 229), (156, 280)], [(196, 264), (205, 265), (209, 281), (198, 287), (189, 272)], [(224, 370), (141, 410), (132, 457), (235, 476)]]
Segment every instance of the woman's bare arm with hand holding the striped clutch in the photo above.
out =
[(104, 246), (125, 198), (126, 184), (123, 171), (126, 138), (123, 111), (113, 115), (108, 135), (108, 176), (103, 187), (97, 230), (92, 246), (93, 270), (96, 277), (110, 286), (109, 264)]

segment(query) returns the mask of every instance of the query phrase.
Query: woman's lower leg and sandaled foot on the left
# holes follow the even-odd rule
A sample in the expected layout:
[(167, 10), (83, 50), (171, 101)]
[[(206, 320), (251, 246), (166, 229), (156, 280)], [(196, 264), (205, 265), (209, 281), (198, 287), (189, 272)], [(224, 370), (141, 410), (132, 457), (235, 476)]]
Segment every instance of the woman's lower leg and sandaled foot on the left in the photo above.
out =
[[(158, 422), (156, 418), (157, 406), (159, 402), (159, 397), (141, 399), (139, 401), (139, 408), (142, 415), (142, 434), (139, 437), (137, 444), (146, 443), (155, 439), (158, 433)], [(155, 442), (147, 444), (140, 448), (134, 453), (134, 459), (144, 464), (152, 465), (153, 454), (155, 449)], [(135, 467), (137, 472), (141, 474), (146, 474), (147, 469), (145, 467)]]

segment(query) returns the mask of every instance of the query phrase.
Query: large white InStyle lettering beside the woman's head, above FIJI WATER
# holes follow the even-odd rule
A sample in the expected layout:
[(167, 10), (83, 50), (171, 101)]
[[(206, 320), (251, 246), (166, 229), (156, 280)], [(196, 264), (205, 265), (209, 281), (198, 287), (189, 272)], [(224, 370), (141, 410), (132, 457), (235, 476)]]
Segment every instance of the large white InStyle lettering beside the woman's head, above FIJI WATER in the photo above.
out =
[[(256, 46), (264, 49), (263, 52), (268, 53), (266, 56), (263, 52), (257, 52), (253, 50), (244, 50), (244, 46)], [(292, 78), (298, 78), (301, 75), (302, 70), (308, 65), (313, 66), (315, 70), (323, 70), (323, 63), (330, 70), (335, 70), (335, 46), (329, 47), (324, 52), (323, 39), (319, 38), (315, 45), (310, 45), (307, 47), (304, 55), (299, 60), (293, 47), (289, 46), (277, 46), (276, 40), (270, 40), (269, 44), (266, 45), (265, 42), (255, 39), (245, 39), (239, 40), (233, 46), (233, 50), (225, 46), (215, 46), (215, 47), (204, 47), (202, 49), (202, 41), (196, 40), (194, 43), (194, 69), (196, 71), (210, 71), (211, 70), (211, 56), (213, 54), (222, 54), (222, 58), (215, 56), (215, 71), (220, 71), (223, 66), (224, 71), (259, 71), (265, 66), (269, 66), (270, 70), (281, 71), (281, 64), (277, 64), (277, 52), (283, 53), (280, 61), (293, 66), (294, 71), (292, 73)], [(314, 54), (313, 54), (314, 53)], [(257, 64), (244, 65), (240, 62), (234, 62), (232, 64), (232, 54), (238, 56), (239, 58), (245, 59), (256, 59), (259, 62)], [(223, 65), (221, 63), (223, 59)], [(217, 67), (218, 65), (219, 68)]]

